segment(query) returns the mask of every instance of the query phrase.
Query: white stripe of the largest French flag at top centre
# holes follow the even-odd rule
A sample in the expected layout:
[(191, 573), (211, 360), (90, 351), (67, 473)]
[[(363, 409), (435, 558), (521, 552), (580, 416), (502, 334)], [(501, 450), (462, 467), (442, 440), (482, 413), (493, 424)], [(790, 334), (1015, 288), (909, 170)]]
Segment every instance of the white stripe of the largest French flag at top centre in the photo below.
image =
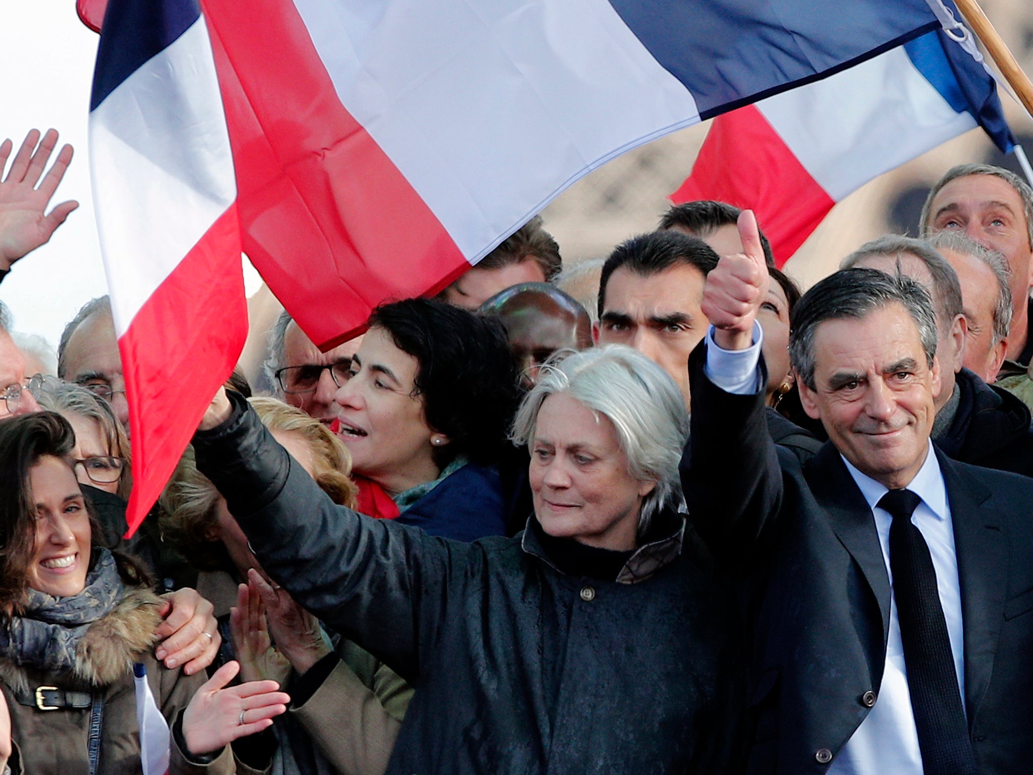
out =
[(341, 102), (470, 260), (588, 171), (699, 121), (605, 0), (294, 4)]

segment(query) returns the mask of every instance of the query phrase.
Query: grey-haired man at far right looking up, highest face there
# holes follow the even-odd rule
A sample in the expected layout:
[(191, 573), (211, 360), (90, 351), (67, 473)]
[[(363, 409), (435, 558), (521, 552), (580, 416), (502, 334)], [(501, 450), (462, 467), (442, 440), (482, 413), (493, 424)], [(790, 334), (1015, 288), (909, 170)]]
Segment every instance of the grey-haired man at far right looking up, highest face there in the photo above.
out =
[(1009, 169), (959, 164), (933, 186), (921, 208), (922, 236), (962, 231), (1004, 254), (1011, 270), (1012, 318), (1008, 373), (1022, 373), (1033, 355), (1030, 286), (1033, 285), (1033, 189)]

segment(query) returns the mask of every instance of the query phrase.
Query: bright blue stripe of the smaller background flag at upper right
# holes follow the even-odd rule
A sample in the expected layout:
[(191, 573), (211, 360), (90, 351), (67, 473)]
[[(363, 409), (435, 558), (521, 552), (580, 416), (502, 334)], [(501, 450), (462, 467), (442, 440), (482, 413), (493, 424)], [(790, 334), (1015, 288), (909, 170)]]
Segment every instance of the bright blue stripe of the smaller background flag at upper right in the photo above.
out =
[(990, 73), (942, 30), (904, 47), (908, 58), (947, 103), (971, 114), (1002, 153), (1015, 145)]

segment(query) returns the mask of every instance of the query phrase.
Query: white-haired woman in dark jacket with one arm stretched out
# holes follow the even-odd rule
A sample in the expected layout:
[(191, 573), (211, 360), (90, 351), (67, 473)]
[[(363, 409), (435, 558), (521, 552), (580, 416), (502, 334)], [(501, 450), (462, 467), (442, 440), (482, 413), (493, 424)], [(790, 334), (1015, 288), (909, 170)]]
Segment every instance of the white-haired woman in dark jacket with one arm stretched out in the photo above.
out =
[(473, 544), (334, 505), (237, 397), (194, 448), (270, 576), (415, 686), (387, 772), (711, 772), (742, 639), (679, 513), (687, 433), (630, 348), (550, 365), (513, 429), (534, 515)]

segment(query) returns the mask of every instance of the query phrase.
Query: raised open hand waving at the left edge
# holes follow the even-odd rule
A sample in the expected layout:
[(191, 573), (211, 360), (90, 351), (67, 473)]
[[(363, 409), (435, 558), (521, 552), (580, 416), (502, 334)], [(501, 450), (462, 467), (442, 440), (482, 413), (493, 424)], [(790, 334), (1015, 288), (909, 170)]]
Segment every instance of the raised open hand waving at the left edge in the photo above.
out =
[[(14, 261), (43, 245), (79, 207), (74, 200), (62, 202), (44, 215), (71, 161), (72, 148), (65, 145), (43, 175), (57, 143), (56, 130), (49, 129), (40, 141), (39, 130), (32, 129), (14, 155), (7, 177), (0, 180), (0, 272), (6, 273)], [(10, 140), (0, 143), (0, 175), (12, 149)]]

